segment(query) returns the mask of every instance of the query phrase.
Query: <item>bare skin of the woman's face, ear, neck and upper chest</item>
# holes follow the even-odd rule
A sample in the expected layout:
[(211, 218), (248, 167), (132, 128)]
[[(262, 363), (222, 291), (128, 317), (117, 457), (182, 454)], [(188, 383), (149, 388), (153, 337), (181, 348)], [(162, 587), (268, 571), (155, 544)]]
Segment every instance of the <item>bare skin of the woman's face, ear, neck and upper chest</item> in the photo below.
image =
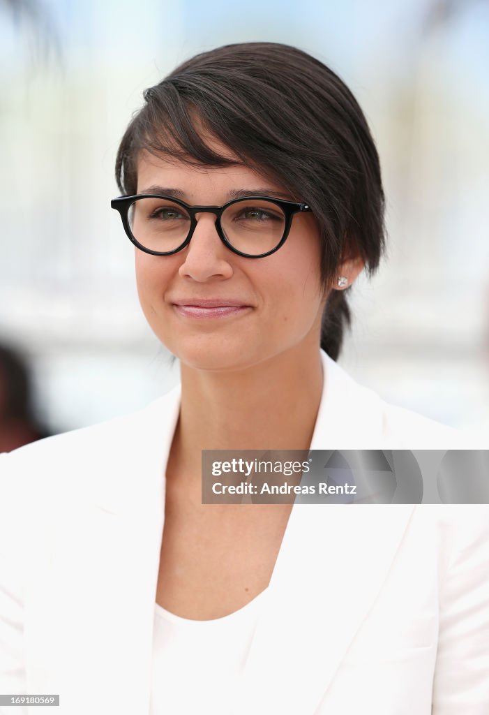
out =
[[(268, 188), (293, 199), (241, 164), (197, 169), (141, 154), (137, 191), (154, 185), (181, 189), (183, 201), (195, 205), (222, 205), (230, 189)], [(312, 214), (296, 215), (285, 244), (256, 260), (223, 245), (212, 214), (197, 219), (190, 245), (175, 255), (136, 249), (136, 280), (149, 325), (181, 363), (156, 601), (184, 618), (207, 620), (236, 611), (268, 586), (292, 506), (202, 505), (201, 450), (308, 450), (323, 390), (321, 316), (331, 288), (321, 285)], [(362, 267), (346, 260), (338, 275), (351, 283)], [(192, 320), (174, 307), (181, 298), (238, 299), (248, 308)]]

